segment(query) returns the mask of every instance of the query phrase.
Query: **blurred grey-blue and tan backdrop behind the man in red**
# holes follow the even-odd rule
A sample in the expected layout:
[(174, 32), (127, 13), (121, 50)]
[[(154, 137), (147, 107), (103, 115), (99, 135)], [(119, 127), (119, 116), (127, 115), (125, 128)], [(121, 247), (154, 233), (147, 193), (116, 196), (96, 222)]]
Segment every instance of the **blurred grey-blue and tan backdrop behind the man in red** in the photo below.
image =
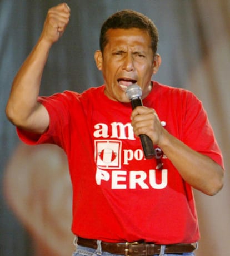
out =
[[(0, 255), (71, 255), (71, 184), (66, 156), (53, 145), (27, 146), (4, 114), (11, 83), (55, 0), (0, 1)], [(230, 1), (70, 0), (71, 21), (44, 70), (41, 95), (82, 92), (103, 83), (94, 64), (99, 29), (112, 13), (134, 9), (159, 30), (155, 80), (203, 101), (221, 146), (225, 185), (214, 197), (194, 191), (201, 241), (197, 256), (228, 256), (230, 242)], [(205, 138), (203, 138), (205, 140)]]

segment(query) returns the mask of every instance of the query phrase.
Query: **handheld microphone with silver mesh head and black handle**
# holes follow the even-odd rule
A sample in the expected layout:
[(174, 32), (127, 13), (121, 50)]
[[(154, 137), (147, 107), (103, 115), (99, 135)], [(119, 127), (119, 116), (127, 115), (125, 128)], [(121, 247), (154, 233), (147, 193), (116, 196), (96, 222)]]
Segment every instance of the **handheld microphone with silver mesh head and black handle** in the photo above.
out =
[[(142, 103), (142, 90), (141, 87), (138, 85), (129, 85), (126, 89), (126, 96), (131, 102), (132, 109), (135, 109), (137, 106), (143, 106)], [(152, 140), (149, 138), (149, 136), (145, 134), (139, 135), (141, 139), (142, 149), (144, 151), (144, 156), (146, 159), (152, 159), (155, 156), (155, 150), (153, 146)]]

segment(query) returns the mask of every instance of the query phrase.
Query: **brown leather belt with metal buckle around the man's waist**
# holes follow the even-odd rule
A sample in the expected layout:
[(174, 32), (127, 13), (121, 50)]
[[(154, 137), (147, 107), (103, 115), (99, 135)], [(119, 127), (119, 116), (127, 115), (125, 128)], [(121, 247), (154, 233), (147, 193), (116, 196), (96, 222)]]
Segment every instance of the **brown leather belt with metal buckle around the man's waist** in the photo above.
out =
[[(77, 244), (83, 247), (89, 247), (97, 249), (97, 240), (77, 238)], [(126, 243), (108, 243), (101, 242), (102, 251), (121, 254), (126, 256), (147, 256), (153, 254), (159, 254), (161, 251), (161, 245), (145, 242), (126, 242)], [(165, 253), (190, 253), (195, 250), (193, 244), (170, 244), (166, 245)]]

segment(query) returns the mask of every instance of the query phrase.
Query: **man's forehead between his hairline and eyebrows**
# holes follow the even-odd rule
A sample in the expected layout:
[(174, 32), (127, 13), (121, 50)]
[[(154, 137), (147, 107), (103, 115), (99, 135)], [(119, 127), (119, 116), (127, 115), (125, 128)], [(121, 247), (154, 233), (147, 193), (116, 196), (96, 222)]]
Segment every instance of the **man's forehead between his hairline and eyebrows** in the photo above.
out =
[(151, 48), (151, 37), (147, 31), (139, 28), (109, 29), (106, 32), (107, 45), (109, 46), (142, 46)]

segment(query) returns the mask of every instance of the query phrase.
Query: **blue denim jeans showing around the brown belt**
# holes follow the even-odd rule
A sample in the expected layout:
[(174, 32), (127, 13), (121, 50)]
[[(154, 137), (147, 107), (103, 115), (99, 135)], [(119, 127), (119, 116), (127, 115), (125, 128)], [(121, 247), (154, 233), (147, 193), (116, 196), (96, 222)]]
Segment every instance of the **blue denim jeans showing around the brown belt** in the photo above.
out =
[[(195, 254), (192, 253), (183, 253), (183, 254), (164, 254), (165, 256), (195, 256)], [(80, 245), (76, 245), (76, 250), (72, 254), (72, 256), (119, 256), (117, 254), (111, 254), (107, 252), (101, 252), (101, 250), (98, 248), (97, 250), (89, 247), (82, 247)], [(120, 255), (122, 256), (122, 255)], [(159, 256), (159, 254), (154, 254), (153, 256)]]

